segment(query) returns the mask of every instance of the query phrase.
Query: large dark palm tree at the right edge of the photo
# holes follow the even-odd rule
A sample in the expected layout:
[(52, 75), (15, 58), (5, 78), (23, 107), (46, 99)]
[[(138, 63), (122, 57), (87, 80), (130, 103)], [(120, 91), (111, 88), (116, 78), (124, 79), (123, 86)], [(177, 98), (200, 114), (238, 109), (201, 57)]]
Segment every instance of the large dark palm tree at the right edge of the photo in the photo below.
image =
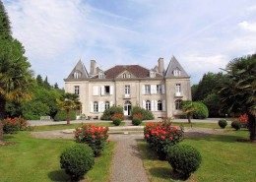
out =
[(235, 58), (224, 70), (228, 82), (219, 92), (221, 110), (248, 115), (250, 140), (256, 141), (256, 54)]

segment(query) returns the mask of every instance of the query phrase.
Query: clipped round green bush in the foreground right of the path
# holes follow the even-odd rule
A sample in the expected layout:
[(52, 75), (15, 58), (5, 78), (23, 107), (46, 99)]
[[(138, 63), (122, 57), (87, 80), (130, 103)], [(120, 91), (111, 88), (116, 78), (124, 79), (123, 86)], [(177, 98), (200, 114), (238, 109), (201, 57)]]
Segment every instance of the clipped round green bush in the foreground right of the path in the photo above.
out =
[(167, 149), (167, 161), (185, 179), (199, 168), (201, 160), (200, 152), (191, 146), (175, 145)]

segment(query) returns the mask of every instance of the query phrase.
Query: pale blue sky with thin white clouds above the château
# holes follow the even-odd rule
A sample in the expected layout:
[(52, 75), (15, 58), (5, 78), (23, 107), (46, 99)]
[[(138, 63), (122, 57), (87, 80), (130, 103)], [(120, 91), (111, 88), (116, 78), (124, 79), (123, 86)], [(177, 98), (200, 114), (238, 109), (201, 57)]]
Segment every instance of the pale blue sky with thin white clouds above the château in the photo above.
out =
[(255, 0), (3, 0), (34, 74), (63, 86), (79, 59), (89, 69), (153, 68), (174, 55), (192, 84), (256, 52)]

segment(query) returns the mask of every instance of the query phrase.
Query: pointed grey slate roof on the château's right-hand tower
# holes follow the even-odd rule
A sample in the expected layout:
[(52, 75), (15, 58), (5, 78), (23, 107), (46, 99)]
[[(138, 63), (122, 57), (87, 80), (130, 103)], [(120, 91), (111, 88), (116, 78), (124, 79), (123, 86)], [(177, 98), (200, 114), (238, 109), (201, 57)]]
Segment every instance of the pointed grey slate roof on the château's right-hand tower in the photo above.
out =
[[(178, 70), (180, 71), (180, 74), (178, 76), (174, 76), (174, 71)], [(171, 78), (171, 77), (189, 77), (189, 75), (186, 73), (186, 71), (183, 69), (183, 67), (179, 64), (177, 59), (172, 56), (168, 67), (164, 73), (165, 78)]]

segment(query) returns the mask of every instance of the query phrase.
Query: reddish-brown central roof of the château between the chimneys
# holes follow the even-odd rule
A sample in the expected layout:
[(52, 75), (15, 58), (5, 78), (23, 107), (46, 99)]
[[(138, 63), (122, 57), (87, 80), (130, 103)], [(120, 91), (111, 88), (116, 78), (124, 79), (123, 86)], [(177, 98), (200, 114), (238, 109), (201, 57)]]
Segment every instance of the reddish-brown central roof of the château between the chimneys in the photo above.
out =
[[(105, 78), (106, 79), (115, 79), (124, 71), (128, 71), (137, 78), (149, 78), (150, 70), (140, 66), (140, 65), (116, 65), (108, 70), (106, 70)], [(156, 75), (157, 78), (160, 78), (160, 75)]]

